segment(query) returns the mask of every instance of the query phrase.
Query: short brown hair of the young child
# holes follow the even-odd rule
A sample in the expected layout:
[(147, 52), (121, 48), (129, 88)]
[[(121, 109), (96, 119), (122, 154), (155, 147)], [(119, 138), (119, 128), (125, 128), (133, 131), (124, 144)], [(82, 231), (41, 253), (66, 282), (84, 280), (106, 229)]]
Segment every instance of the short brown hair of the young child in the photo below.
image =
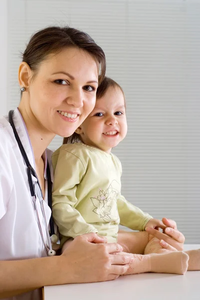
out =
[[(110, 77), (105, 76), (97, 88), (96, 98), (99, 99), (99, 98), (103, 97), (109, 87), (119, 88), (124, 95), (124, 91), (123, 91), (122, 87), (115, 80), (111, 79)], [(124, 101), (125, 101), (125, 96), (124, 96)], [(126, 107), (126, 104), (125, 104), (125, 107)], [(68, 137), (63, 138), (63, 144), (74, 143), (74, 142), (79, 142), (79, 141), (80, 141), (80, 137), (79, 137), (79, 134), (76, 132), (74, 132), (72, 135), (70, 135)]]

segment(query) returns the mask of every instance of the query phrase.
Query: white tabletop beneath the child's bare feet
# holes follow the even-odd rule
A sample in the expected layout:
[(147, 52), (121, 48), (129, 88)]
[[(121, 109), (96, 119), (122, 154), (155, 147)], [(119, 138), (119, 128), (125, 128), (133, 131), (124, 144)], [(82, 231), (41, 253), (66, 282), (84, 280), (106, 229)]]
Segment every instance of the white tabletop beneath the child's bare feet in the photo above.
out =
[[(185, 245), (185, 250), (200, 245)], [(200, 300), (200, 271), (143, 273), (97, 283), (44, 287), (44, 300)]]

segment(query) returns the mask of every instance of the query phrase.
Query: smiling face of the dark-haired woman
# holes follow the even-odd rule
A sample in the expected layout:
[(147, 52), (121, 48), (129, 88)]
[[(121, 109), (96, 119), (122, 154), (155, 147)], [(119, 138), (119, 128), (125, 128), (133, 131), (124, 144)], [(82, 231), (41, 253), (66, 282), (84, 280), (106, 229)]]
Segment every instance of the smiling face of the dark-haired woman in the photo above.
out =
[(31, 113), (45, 132), (69, 136), (92, 111), (98, 86), (95, 58), (70, 47), (40, 63), (29, 86)]

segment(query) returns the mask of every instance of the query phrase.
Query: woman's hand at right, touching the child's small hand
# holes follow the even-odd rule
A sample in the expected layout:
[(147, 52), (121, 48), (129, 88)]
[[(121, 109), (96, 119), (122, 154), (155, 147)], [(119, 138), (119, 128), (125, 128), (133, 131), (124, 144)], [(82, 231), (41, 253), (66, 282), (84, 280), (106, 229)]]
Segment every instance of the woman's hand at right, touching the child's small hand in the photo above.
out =
[(185, 236), (177, 229), (177, 223), (166, 217), (164, 217), (162, 221), (167, 226), (164, 230), (165, 233), (149, 227), (145, 230), (160, 239), (160, 244), (163, 248), (172, 251), (182, 251), (184, 248)]

